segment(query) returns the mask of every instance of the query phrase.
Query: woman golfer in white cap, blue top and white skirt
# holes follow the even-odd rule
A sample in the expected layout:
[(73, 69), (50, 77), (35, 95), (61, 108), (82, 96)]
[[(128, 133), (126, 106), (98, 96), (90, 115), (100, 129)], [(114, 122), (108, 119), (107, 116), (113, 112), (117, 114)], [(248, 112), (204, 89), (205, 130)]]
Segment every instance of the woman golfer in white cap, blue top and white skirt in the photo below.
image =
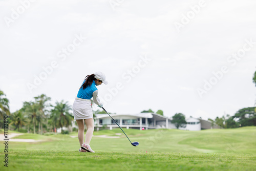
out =
[[(98, 104), (100, 108), (103, 107), (98, 99), (98, 89), (96, 88), (96, 86), (99, 86), (102, 82), (108, 84), (108, 81), (105, 80), (105, 75), (102, 72), (87, 75), (73, 103), (73, 114), (78, 125), (78, 140), (81, 146), (79, 152), (95, 153), (90, 147), (90, 141), (94, 131), (93, 111), (90, 99), (93, 97), (93, 101)], [(87, 126), (85, 142), (83, 142), (84, 122)]]

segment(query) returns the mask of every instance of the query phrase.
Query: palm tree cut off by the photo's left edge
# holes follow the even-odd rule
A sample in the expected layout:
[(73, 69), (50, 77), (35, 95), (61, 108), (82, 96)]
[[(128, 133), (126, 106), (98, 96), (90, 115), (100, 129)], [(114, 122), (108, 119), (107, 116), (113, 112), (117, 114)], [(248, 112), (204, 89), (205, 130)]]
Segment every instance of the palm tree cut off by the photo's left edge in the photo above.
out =
[(6, 95), (3, 91), (0, 90), (0, 128), (4, 125), (5, 115), (10, 115), (9, 111), (9, 100), (6, 98)]

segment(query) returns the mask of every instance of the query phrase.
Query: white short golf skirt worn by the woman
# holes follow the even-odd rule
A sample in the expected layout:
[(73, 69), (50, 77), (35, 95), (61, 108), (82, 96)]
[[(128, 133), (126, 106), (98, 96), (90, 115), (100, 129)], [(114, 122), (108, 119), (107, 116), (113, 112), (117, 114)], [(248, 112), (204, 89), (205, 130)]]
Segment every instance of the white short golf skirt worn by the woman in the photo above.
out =
[(91, 108), (91, 100), (88, 99), (75, 99), (73, 103), (74, 119), (90, 119), (93, 118), (93, 110)]

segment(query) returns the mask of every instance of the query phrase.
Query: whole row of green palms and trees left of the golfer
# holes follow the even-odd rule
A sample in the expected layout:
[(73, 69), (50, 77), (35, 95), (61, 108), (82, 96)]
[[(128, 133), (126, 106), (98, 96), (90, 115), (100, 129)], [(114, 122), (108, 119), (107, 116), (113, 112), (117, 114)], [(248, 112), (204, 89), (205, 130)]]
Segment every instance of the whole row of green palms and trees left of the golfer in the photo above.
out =
[(4, 116), (7, 115), (9, 130), (43, 134), (60, 128), (63, 133), (63, 127), (72, 125), (71, 106), (63, 100), (52, 105), (50, 100), (50, 97), (42, 94), (34, 97), (32, 101), (23, 102), (20, 110), (10, 113), (9, 100), (0, 90), (0, 129), (3, 128)]

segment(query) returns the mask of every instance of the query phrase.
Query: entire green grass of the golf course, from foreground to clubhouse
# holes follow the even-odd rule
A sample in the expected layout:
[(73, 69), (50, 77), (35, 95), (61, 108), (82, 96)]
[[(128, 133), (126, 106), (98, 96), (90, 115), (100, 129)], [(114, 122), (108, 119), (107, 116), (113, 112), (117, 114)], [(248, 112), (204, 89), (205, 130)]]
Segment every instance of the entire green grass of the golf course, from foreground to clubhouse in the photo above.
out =
[[(256, 170), (256, 127), (204, 130), (126, 130), (94, 133), (96, 153), (79, 153), (77, 133), (69, 135), (23, 134), (12, 139), (8, 168), (1, 170)], [(107, 137), (103, 138), (101, 137)], [(112, 137), (112, 138), (110, 138)], [(113, 138), (114, 137), (114, 138)], [(4, 144), (1, 141), (1, 158)], [(3, 156), (3, 157), (2, 157)]]

